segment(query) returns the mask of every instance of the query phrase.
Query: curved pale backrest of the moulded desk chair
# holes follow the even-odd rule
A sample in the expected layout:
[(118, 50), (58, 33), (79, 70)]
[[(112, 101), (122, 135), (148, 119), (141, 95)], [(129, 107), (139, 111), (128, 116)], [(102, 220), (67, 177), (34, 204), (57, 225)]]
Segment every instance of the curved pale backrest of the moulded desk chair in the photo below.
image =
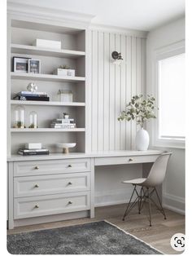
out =
[(143, 183), (144, 186), (155, 187), (163, 183), (168, 166), (168, 160), (171, 155), (172, 152), (163, 153), (156, 159), (146, 181)]

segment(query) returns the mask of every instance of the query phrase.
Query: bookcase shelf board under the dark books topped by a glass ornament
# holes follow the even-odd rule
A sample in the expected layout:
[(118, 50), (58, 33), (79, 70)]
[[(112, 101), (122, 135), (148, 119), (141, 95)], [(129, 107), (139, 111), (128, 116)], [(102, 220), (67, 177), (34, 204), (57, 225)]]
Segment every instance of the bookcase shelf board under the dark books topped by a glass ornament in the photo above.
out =
[(37, 106), (69, 106), (85, 107), (84, 102), (59, 102), (59, 101), (33, 101), (33, 100), (14, 100), (11, 99), (12, 105), (37, 105)]

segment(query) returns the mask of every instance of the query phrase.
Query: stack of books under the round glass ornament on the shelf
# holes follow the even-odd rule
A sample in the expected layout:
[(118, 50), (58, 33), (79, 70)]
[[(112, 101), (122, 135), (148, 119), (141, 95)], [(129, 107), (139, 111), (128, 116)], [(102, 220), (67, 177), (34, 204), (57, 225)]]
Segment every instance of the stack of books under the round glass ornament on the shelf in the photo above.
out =
[(13, 99), (50, 101), (50, 97), (43, 91), (20, 91)]

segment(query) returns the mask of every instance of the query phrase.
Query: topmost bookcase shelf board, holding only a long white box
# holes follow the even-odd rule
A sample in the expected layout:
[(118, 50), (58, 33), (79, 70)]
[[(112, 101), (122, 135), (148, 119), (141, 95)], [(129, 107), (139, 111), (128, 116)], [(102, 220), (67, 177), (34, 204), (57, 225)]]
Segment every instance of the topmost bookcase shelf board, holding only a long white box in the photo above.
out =
[(52, 56), (59, 58), (71, 58), (77, 59), (81, 56), (85, 56), (85, 51), (72, 51), (72, 50), (60, 50), (49, 49), (37, 46), (25, 46), (20, 44), (11, 44), (11, 53), (24, 54), (24, 55), (41, 55)]

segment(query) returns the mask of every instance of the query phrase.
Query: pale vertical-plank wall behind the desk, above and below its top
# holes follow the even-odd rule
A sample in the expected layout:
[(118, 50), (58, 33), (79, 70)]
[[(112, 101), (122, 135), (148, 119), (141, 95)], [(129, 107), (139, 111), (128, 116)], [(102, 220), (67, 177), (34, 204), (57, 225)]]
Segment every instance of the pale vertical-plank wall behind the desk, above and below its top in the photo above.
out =
[[(90, 150), (133, 149), (137, 127), (134, 122), (117, 121), (117, 117), (132, 95), (145, 89), (146, 39), (91, 29), (89, 46), (92, 56), (89, 64)], [(121, 52), (124, 59), (121, 68), (112, 64), (112, 51)], [(127, 202), (133, 188), (121, 181), (141, 175), (141, 165), (97, 167), (95, 204)]]

